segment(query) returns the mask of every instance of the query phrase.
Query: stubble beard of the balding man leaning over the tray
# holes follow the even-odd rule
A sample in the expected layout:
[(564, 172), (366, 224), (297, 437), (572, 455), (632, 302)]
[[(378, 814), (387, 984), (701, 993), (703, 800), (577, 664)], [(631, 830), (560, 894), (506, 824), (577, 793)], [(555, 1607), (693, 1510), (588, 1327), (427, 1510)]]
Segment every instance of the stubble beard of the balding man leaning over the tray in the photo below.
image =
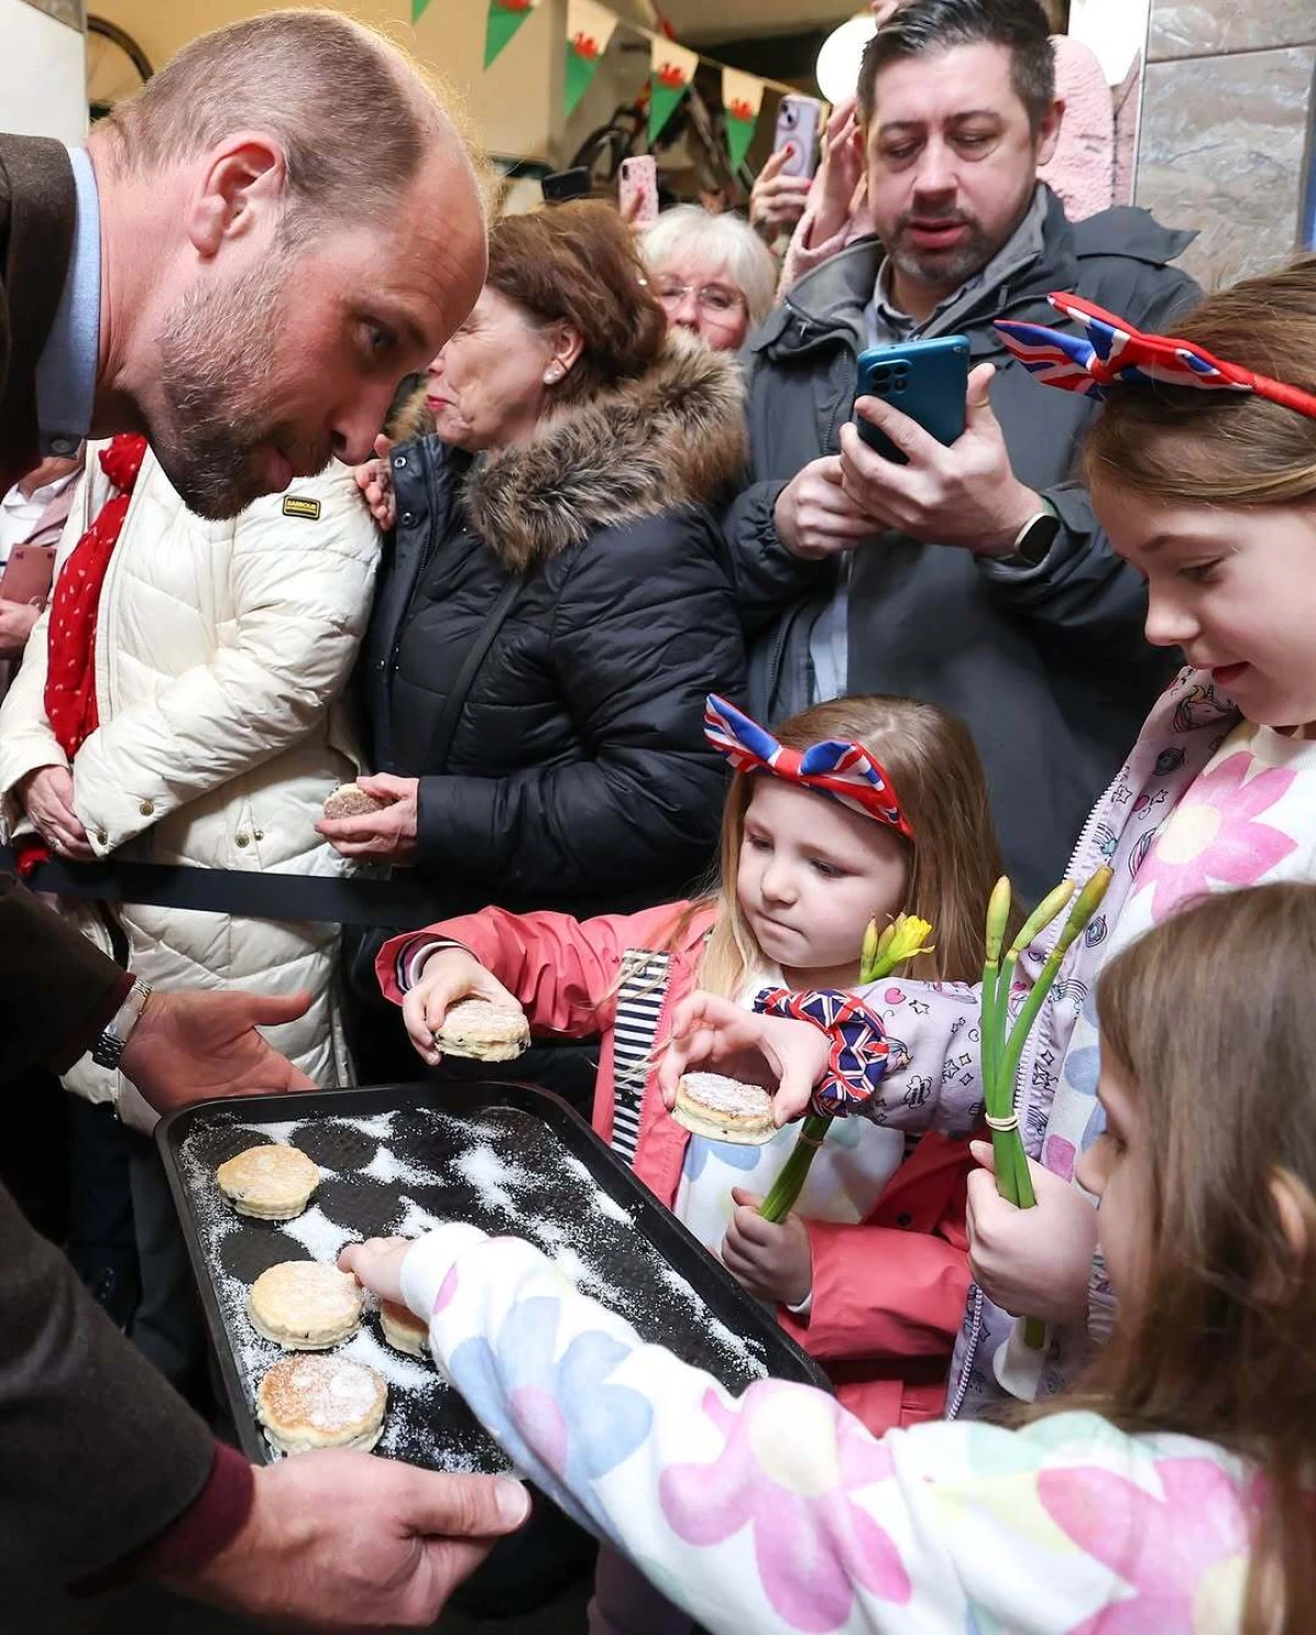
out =
[(155, 458), (188, 510), (227, 522), (270, 492), (260, 450), (271, 441), (299, 468), (324, 469), (324, 446), (299, 448), (271, 420), (270, 363), (283, 334), (293, 257), (273, 252), (229, 284), (195, 286), (160, 329), (162, 412)]

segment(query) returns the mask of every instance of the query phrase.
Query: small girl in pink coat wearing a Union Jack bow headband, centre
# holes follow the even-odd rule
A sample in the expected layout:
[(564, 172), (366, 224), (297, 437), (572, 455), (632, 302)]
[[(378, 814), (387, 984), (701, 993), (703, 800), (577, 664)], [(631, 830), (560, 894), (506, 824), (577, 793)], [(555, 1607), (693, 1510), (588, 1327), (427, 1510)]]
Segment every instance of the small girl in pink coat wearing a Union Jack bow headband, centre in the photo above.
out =
[[(709, 698), (705, 729), (736, 773), (708, 896), (584, 922), (486, 909), (394, 938), (376, 970), (432, 1063), (433, 1033), (466, 994), (523, 1006), (536, 1033), (602, 1033), (598, 1133), (777, 1308), (880, 1434), (942, 1411), (968, 1287), (966, 1143), (930, 1135), (911, 1146), (906, 1128), (927, 1123), (917, 1094), (889, 1128), (839, 1123), (798, 1213), (770, 1225), (757, 1203), (796, 1131), (767, 1146), (692, 1136), (662, 1105), (657, 1059), (674, 1010), (703, 988), (742, 1006), (777, 991), (795, 1015), (844, 1014), (848, 1041), (870, 1046), (850, 1061), (871, 1064), (881, 1027), (850, 992), (870, 919), (884, 925), (904, 911), (929, 921), (937, 947), (919, 965), (930, 978), (963, 983), (981, 963), (979, 927), (1000, 871), (986, 780), (963, 726), (897, 698), (816, 705), (775, 734)], [(862, 997), (881, 1004), (881, 992)], [(966, 1004), (963, 1025), (973, 1022)], [(865, 1092), (845, 1050), (834, 1066), (837, 1100)], [(672, 1609), (665, 1622), (657, 1592), (605, 1552), (590, 1627), (649, 1635), (688, 1620)]]

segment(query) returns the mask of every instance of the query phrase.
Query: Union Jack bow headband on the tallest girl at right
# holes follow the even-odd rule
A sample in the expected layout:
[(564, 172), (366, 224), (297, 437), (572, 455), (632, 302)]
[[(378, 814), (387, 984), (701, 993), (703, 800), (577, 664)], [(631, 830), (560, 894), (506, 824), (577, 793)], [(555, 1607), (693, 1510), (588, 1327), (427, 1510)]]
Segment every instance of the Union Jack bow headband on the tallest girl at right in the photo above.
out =
[(1167, 386), (1197, 386), (1203, 391), (1256, 392), (1257, 397), (1316, 419), (1316, 396), (1300, 386), (1254, 374), (1239, 363), (1224, 363), (1187, 340), (1143, 335), (1125, 319), (1082, 296), (1053, 293), (1046, 299), (1079, 325), (1077, 335), (1066, 335), (1043, 324), (996, 320), (1000, 338), (1045, 386), (1105, 397), (1107, 387), (1120, 381), (1138, 386), (1164, 381)]

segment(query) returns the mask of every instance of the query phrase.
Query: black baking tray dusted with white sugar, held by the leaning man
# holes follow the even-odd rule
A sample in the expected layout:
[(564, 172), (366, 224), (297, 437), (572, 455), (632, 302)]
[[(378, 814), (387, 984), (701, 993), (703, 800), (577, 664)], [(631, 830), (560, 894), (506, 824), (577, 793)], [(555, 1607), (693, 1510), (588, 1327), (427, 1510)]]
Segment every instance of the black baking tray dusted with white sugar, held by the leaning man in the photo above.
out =
[[(389, 1130), (383, 1133), (386, 1120)], [(312, 1218), (302, 1216), (301, 1226), (239, 1216), (219, 1200), (214, 1185), (214, 1169), (258, 1140), (270, 1140), (271, 1131), (260, 1127), (273, 1125), (296, 1127), (283, 1131), (283, 1138), (332, 1172), (312, 1198), (307, 1210)], [(317, 1233), (329, 1234), (329, 1228), (338, 1228), (345, 1243), (417, 1230), (419, 1216), (468, 1220), (490, 1233), (517, 1233), (548, 1252), (569, 1256), (571, 1269), (584, 1262), (585, 1293), (618, 1310), (642, 1339), (659, 1341), (706, 1368), (734, 1395), (765, 1375), (830, 1390), (822, 1368), (778, 1328), (772, 1313), (741, 1288), (564, 1100), (535, 1086), (489, 1079), (445, 1084), (438, 1092), (420, 1084), (391, 1084), (201, 1102), (163, 1118), (155, 1141), (234, 1426), (252, 1460), (268, 1462), (276, 1455), (253, 1411), (253, 1354), (265, 1342), (250, 1334), (237, 1305), (240, 1288), (278, 1261), (324, 1259), (325, 1246), (314, 1239)], [(584, 1171), (562, 1162), (561, 1153), (554, 1159), (554, 1144)], [(468, 1184), (464, 1172), (453, 1172), (451, 1166), (466, 1162), (464, 1154), (476, 1148), (492, 1148), (499, 1162), (528, 1177), (515, 1194), (504, 1189), (507, 1208), (487, 1189), (482, 1194)], [(544, 1159), (561, 1167), (546, 1169)], [(430, 1184), (417, 1179), (422, 1174), (430, 1176)], [(613, 1207), (592, 1202), (595, 1189)], [(298, 1231), (312, 1241), (302, 1241)], [(600, 1267), (608, 1275), (600, 1275)], [(682, 1280), (688, 1285), (685, 1292), (678, 1288)], [(729, 1346), (731, 1337), (739, 1346)], [(363, 1344), (374, 1341), (366, 1334)], [(263, 1362), (268, 1365), (278, 1355), (270, 1347)], [(387, 1357), (394, 1373), (409, 1368), (396, 1354)], [(391, 1429), (378, 1452), (435, 1470), (505, 1470), (507, 1460), (466, 1404), (441, 1385), (432, 1365), (423, 1367), (432, 1388), (399, 1393), (391, 1386), (389, 1416), (397, 1413), (401, 1421), (397, 1434)]]

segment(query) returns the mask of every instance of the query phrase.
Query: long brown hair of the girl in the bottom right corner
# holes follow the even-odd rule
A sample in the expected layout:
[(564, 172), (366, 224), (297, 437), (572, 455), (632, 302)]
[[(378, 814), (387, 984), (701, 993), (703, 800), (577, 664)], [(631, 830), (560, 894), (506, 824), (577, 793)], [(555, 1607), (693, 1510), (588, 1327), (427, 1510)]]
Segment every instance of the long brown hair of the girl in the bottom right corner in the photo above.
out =
[(1316, 1606), (1313, 988), (1305, 885), (1206, 898), (1102, 974), (1102, 1051), (1151, 1154), (1144, 1270), (1100, 1360), (1046, 1409), (1094, 1408), (1256, 1460), (1247, 1635), (1298, 1635)]

